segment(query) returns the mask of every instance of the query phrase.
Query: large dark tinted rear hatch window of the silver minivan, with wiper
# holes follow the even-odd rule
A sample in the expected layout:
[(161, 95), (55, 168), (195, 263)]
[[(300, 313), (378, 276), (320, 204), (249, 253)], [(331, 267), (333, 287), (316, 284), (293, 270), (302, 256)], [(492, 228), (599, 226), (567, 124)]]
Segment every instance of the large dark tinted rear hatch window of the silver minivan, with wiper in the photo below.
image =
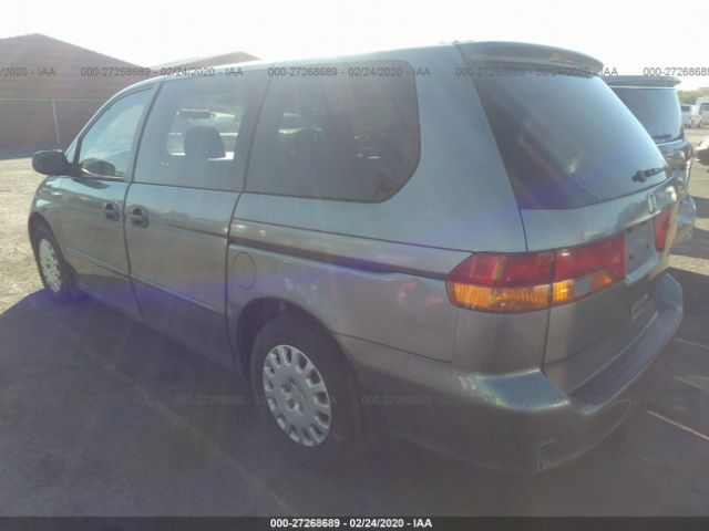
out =
[(520, 208), (584, 207), (667, 178), (634, 179), (665, 160), (600, 77), (527, 70), (473, 80)]

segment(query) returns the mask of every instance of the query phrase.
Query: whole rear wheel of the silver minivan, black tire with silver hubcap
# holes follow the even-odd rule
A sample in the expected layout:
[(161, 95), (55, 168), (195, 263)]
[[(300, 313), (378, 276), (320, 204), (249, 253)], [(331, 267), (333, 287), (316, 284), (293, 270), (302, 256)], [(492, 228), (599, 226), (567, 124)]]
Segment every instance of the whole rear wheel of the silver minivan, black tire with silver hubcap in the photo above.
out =
[[(297, 314), (282, 313), (256, 335), (250, 365), (257, 408), (269, 435), (289, 456), (323, 470), (345, 465), (361, 448), (356, 378), (329, 334)], [(299, 374), (294, 373), (296, 365)]]

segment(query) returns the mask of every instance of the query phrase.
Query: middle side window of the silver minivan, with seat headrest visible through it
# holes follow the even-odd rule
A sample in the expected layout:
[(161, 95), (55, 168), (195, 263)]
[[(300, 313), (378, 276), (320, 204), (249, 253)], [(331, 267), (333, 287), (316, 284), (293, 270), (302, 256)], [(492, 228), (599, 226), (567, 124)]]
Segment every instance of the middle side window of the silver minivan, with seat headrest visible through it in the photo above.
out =
[(135, 181), (235, 189), (233, 160), (246, 97), (236, 77), (166, 83), (145, 125)]

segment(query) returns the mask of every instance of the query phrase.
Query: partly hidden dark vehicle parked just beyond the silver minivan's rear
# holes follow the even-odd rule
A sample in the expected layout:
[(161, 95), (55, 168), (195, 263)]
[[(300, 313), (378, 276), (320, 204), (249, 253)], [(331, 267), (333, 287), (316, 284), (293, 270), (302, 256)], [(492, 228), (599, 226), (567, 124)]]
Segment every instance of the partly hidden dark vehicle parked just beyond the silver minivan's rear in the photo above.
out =
[(689, 195), (692, 147), (682, 131), (682, 112), (677, 96), (680, 82), (674, 76), (614, 75), (604, 77), (650, 134), (678, 179), (677, 237), (675, 243), (689, 240), (697, 218), (697, 207)]

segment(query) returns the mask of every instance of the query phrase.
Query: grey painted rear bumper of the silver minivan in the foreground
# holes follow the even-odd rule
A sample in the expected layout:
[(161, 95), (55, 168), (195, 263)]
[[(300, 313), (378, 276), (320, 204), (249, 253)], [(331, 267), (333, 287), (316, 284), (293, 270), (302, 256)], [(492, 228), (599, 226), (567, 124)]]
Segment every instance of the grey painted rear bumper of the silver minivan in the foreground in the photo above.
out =
[(339, 336), (363, 387), (362, 404), (390, 431), (485, 468), (536, 472), (589, 450), (621, 421), (631, 384), (671, 340), (682, 316), (679, 284), (658, 283), (655, 317), (578, 388), (565, 393), (542, 369), (483, 375)]

